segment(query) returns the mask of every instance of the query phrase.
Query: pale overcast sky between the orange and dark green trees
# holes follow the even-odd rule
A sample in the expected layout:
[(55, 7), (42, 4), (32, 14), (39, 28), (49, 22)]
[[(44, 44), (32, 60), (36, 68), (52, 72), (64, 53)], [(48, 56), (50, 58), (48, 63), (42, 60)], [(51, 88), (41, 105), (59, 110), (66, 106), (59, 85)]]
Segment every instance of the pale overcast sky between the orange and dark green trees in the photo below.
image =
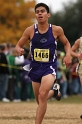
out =
[(52, 12), (57, 12), (63, 9), (63, 3), (69, 3), (69, 1), (76, 2), (77, 0), (36, 0), (37, 3), (43, 2), (49, 5)]

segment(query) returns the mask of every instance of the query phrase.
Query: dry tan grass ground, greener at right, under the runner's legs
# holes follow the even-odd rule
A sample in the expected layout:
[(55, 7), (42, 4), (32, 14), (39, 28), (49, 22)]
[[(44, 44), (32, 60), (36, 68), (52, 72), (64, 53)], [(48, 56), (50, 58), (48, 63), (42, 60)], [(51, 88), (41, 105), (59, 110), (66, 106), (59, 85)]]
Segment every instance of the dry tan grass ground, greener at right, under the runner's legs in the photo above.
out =
[[(37, 104), (30, 102), (0, 102), (0, 124), (35, 124)], [(82, 95), (61, 101), (49, 100), (42, 124), (82, 124)]]

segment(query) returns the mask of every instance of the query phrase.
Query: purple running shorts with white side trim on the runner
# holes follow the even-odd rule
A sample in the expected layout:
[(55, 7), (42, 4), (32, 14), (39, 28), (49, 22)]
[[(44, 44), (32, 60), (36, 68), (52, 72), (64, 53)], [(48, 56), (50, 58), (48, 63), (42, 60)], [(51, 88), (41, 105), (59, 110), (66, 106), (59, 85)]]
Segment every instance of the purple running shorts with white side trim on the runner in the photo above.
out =
[(55, 63), (34, 66), (29, 72), (29, 77), (32, 81), (41, 83), (42, 77), (48, 74), (53, 74), (54, 76), (57, 76), (57, 65)]

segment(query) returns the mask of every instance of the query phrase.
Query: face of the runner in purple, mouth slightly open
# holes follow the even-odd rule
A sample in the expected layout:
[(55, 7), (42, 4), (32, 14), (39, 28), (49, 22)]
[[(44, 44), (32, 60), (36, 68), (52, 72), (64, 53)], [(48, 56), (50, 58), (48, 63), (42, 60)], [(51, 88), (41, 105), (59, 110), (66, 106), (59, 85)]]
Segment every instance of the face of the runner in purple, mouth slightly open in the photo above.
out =
[(44, 7), (38, 7), (35, 11), (35, 16), (38, 22), (48, 21), (50, 14), (47, 13), (47, 10)]

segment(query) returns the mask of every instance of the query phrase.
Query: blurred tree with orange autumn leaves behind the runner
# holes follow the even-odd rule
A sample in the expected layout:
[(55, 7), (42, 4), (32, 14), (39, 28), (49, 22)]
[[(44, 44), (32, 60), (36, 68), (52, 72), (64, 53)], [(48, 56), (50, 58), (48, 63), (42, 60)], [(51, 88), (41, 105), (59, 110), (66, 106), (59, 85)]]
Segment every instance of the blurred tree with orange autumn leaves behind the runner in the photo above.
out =
[(0, 0), (0, 43), (16, 44), (26, 27), (34, 23), (34, 0)]

